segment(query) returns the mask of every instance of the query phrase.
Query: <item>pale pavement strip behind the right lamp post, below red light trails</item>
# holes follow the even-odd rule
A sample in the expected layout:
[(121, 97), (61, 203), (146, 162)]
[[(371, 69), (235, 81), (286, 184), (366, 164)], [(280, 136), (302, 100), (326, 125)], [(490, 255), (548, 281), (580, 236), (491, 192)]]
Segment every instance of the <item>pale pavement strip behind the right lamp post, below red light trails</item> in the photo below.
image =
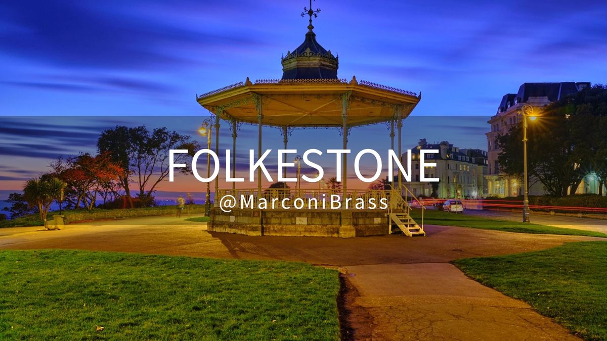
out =
[[(480, 215), (482, 217), (511, 221), (520, 221), (523, 218), (521, 212), (511, 211), (467, 209), (466, 214)], [(557, 228), (568, 228), (607, 233), (607, 219), (578, 218), (571, 217), (569, 215), (549, 215), (532, 213), (530, 220), (532, 223), (557, 226)]]

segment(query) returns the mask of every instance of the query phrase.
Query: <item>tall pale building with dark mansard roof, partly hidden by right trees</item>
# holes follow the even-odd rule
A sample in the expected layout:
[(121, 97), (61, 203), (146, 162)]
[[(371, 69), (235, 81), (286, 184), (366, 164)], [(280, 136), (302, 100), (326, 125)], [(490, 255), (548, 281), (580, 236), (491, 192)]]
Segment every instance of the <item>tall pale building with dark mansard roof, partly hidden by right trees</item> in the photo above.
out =
[[(507, 176), (501, 172), (498, 157), (498, 136), (507, 133), (523, 119), (521, 108), (525, 104), (541, 108), (561, 98), (578, 92), (590, 83), (523, 83), (517, 93), (507, 93), (501, 98), (497, 113), (487, 121), (491, 129), (487, 136), (487, 195), (490, 197), (516, 197), (523, 195), (523, 178)], [(522, 154), (522, 152), (521, 152)], [(544, 187), (530, 179), (529, 195), (543, 195)]]

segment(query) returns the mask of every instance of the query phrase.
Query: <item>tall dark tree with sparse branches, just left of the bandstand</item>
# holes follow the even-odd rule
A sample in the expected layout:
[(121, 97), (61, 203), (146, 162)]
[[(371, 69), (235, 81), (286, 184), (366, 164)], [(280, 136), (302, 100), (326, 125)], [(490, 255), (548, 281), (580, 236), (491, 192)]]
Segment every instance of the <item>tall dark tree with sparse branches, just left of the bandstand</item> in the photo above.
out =
[[(145, 126), (129, 128), (117, 126), (101, 133), (97, 140), (97, 149), (100, 153), (106, 152), (114, 163), (123, 169), (119, 183), (133, 207), (131, 191), (129, 189), (131, 177), (135, 178), (139, 192), (138, 197), (142, 204), (150, 205), (158, 184), (169, 175), (169, 150), (186, 149), (191, 157), (199, 149), (198, 143), (188, 135), (181, 135), (175, 131), (157, 128), (150, 132)], [(187, 161), (188, 155), (175, 154), (175, 163), (185, 163), (180, 172), (191, 173), (191, 164)]]

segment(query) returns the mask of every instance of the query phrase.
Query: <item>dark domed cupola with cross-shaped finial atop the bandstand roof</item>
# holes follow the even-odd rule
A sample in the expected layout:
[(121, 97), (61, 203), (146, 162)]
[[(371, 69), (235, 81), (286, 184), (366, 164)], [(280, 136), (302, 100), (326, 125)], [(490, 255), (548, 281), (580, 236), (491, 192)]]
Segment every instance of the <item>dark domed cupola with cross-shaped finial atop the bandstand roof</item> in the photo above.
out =
[(304, 7), (304, 11), (302, 16), (310, 16), (308, 32), (297, 49), (282, 57), (282, 79), (337, 79), (337, 56), (320, 46), (313, 31), (312, 16), (316, 18), (320, 10), (314, 11), (310, 6), (309, 9)]

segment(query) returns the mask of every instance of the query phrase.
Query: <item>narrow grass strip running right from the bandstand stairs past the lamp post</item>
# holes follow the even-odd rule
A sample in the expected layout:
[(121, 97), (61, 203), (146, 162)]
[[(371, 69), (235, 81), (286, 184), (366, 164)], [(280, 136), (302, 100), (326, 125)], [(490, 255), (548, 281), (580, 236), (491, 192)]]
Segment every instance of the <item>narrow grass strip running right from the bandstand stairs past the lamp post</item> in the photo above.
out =
[[(413, 219), (415, 219), (415, 221), (421, 223), (421, 209), (412, 209), (411, 216)], [(435, 209), (427, 209), (426, 212), (424, 212), (424, 224), (462, 226), (464, 228), (531, 234), (587, 235), (590, 237), (607, 237), (607, 234), (595, 231), (557, 228), (555, 226), (522, 223), (518, 221), (497, 220), (466, 214), (449, 213)]]

